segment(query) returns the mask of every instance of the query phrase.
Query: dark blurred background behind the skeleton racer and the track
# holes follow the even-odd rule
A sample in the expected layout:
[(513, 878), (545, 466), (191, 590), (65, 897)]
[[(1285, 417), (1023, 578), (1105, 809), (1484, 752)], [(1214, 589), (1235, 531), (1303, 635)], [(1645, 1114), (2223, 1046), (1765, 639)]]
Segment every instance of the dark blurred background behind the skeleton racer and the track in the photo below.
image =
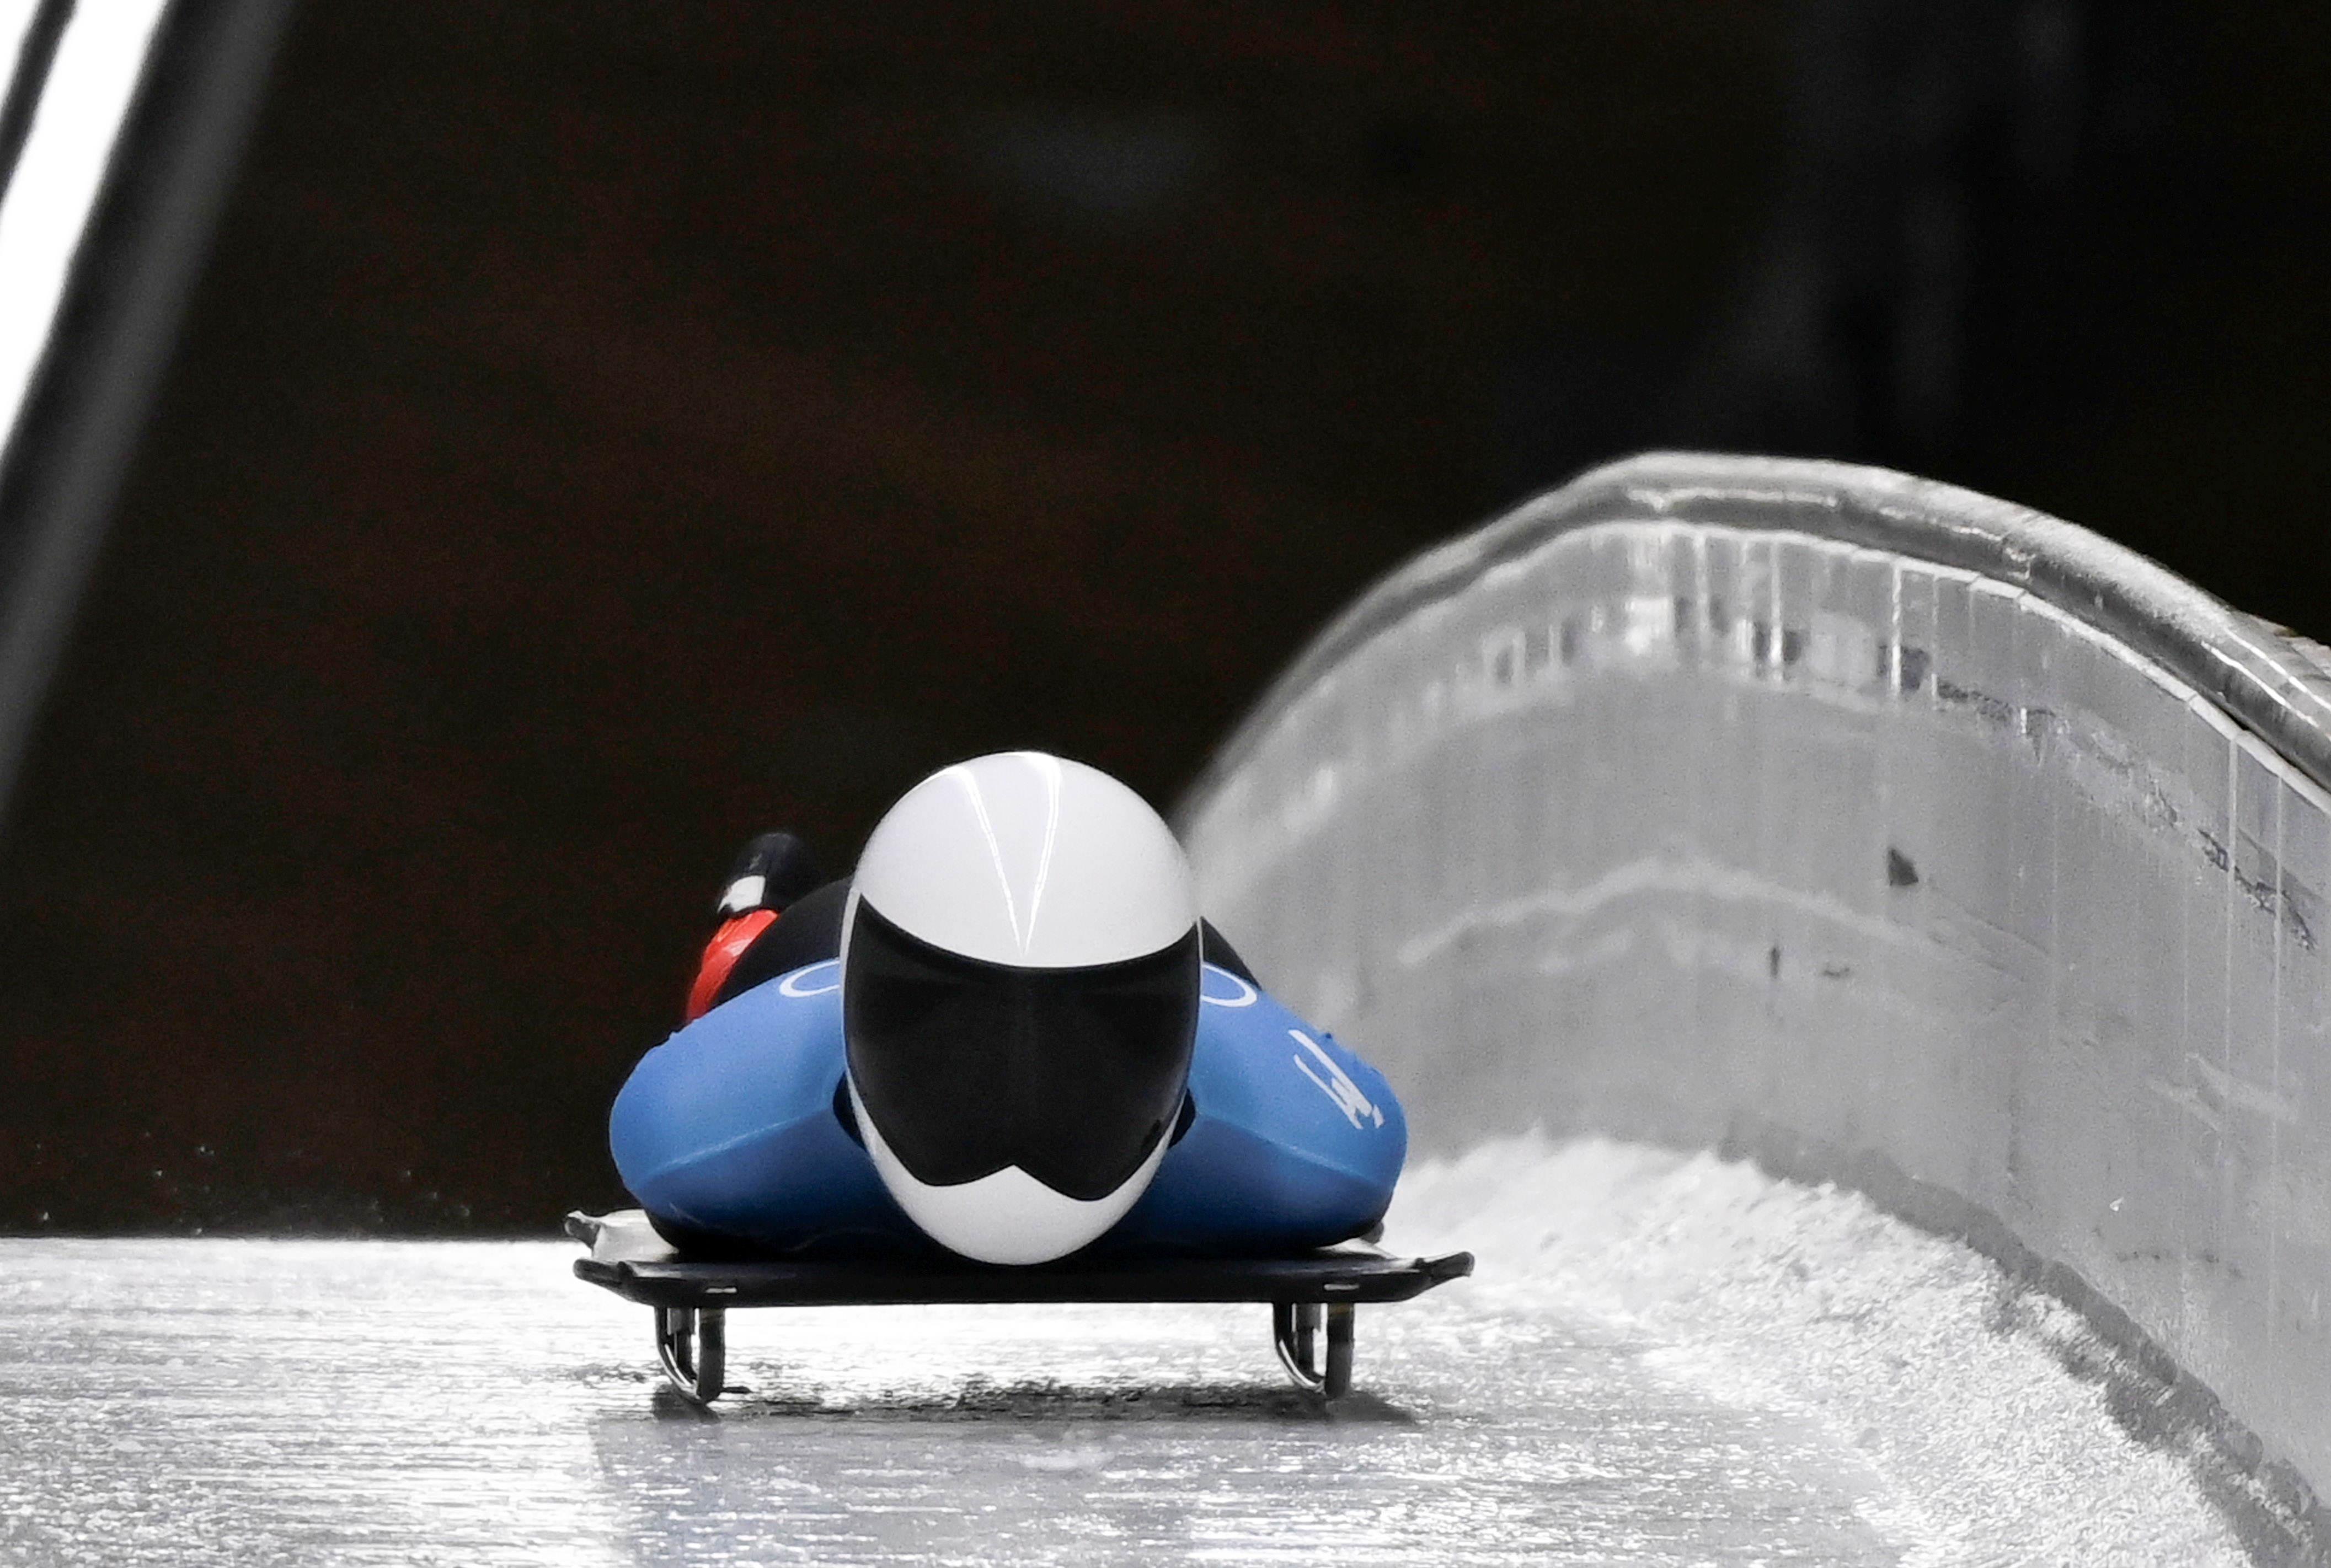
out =
[(0, 836), (0, 1228), (615, 1202), (746, 834), (1170, 804), (1646, 445), (2331, 634), (2322, 5), (853, 9), (296, 14)]

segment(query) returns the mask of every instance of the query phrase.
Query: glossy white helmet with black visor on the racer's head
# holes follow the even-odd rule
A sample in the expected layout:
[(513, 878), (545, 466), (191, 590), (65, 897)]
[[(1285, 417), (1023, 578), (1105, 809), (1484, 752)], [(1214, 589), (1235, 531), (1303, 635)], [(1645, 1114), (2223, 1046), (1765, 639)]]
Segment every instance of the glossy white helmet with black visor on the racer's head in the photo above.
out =
[(923, 1232), (981, 1263), (1077, 1251), (1149, 1186), (1189, 1086), (1182, 846), (1079, 762), (932, 774), (858, 862), (841, 1027), (867, 1153)]

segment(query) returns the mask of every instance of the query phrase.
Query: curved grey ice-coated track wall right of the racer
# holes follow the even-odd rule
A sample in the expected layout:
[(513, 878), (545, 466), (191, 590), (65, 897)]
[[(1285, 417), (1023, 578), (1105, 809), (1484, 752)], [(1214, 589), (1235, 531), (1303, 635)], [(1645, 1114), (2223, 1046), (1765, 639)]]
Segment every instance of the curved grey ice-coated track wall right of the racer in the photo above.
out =
[(2152, 1389), (2124, 1419), (2319, 1540), (2319, 657), (1970, 492), (1643, 457), (1366, 594), (1182, 827), (1420, 1151), (1858, 1186), (2082, 1307)]

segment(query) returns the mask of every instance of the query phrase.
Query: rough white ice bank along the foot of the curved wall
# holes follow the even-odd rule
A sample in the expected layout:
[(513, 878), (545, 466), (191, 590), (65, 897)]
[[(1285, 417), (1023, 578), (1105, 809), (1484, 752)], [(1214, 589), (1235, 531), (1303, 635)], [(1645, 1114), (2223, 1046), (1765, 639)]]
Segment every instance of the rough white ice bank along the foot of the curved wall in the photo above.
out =
[(1559, 1302), (1697, 1398), (1825, 1428), (1874, 1472), (1860, 1512), (1904, 1563), (2247, 1561), (2184, 1465), (2049, 1351), (2042, 1333), (2082, 1333), (2068, 1307), (1855, 1193), (1520, 1137), (1415, 1167), (1387, 1232), (1473, 1249), (1492, 1312)]

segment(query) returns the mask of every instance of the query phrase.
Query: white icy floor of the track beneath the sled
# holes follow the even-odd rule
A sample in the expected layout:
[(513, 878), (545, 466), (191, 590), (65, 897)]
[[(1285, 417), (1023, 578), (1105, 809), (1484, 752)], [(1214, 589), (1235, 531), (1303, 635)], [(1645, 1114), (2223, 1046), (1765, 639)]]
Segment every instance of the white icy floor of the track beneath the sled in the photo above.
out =
[(1417, 1170), (1364, 1393), (1259, 1307), (741, 1312), (702, 1417), (559, 1244), (0, 1242), (9, 1563), (2233, 1563), (2068, 1314), (1622, 1144)]

